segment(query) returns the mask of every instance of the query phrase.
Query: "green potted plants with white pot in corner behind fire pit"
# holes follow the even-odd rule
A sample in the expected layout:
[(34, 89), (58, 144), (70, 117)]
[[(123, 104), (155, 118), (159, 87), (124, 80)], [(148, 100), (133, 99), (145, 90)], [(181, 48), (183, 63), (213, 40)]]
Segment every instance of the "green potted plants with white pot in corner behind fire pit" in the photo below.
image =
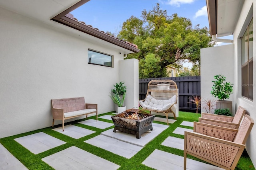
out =
[(121, 113), (126, 110), (126, 107), (123, 106), (124, 99), (126, 96), (126, 86), (124, 86), (124, 82), (116, 83), (114, 85), (114, 89), (111, 90), (110, 98), (116, 104), (116, 112)]

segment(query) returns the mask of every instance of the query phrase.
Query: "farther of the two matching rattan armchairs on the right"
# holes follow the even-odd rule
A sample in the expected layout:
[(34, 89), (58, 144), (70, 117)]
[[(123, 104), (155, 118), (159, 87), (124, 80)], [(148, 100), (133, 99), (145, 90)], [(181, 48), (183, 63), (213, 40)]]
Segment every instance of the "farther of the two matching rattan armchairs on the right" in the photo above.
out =
[(228, 127), (231, 129), (238, 129), (246, 109), (239, 106), (234, 117), (215, 115), (211, 113), (202, 113), (202, 117), (199, 117), (198, 121), (210, 125), (216, 125), (221, 127)]

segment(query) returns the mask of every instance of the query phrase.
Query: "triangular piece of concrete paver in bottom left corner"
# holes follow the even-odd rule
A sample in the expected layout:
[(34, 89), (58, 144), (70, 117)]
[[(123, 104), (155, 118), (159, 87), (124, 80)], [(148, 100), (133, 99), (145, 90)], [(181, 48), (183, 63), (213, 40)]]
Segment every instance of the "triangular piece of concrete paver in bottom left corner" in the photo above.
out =
[(0, 169), (1, 170), (27, 170), (15, 156), (0, 144)]

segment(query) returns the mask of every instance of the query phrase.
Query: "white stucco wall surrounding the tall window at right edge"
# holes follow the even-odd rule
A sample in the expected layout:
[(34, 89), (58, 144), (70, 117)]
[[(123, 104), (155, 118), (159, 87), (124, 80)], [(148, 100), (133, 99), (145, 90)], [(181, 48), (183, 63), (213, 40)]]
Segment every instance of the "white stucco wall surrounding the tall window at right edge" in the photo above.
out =
[[(253, 101), (250, 101), (242, 97), (242, 81), (241, 81), (241, 39), (246, 27), (250, 23), (253, 17)], [(236, 108), (242, 106), (246, 109), (246, 114), (250, 115), (254, 122), (256, 121), (256, 0), (246, 0), (240, 12), (240, 18), (238, 19), (237, 24), (235, 25), (234, 31), (234, 75), (235, 75), (235, 84), (234, 88), (235, 94), (235, 104)], [(254, 164), (256, 166), (256, 125), (252, 128), (250, 136), (246, 142), (246, 150)]]

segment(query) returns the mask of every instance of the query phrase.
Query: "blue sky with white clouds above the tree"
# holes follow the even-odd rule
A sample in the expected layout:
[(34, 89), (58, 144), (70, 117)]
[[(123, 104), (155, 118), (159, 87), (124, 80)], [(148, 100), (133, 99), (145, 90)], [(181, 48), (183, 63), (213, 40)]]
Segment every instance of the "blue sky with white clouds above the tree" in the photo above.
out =
[(206, 0), (90, 0), (71, 14), (102, 31), (117, 33), (124, 21), (131, 16), (142, 19), (142, 11), (152, 10), (156, 3), (169, 16), (177, 13), (189, 18), (193, 26), (200, 24), (200, 27), (209, 28)]

